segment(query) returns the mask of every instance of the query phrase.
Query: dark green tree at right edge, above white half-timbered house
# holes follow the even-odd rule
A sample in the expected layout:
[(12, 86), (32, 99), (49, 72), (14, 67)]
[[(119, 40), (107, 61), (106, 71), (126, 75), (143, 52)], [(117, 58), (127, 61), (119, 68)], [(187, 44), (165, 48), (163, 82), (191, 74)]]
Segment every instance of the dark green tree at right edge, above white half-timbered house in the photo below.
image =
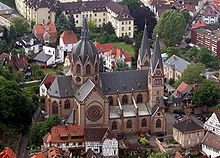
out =
[(204, 80), (202, 86), (196, 87), (193, 94), (193, 103), (196, 106), (215, 106), (218, 104), (220, 88), (211, 80)]

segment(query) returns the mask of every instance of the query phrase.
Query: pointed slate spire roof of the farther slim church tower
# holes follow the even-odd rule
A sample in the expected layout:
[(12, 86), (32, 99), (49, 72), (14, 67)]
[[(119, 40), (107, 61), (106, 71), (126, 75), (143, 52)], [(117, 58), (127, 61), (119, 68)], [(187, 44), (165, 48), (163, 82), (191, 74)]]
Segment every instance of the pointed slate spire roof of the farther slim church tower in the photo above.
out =
[(142, 37), (141, 48), (139, 49), (139, 53), (140, 53), (140, 64), (141, 65), (143, 64), (142, 61), (143, 61), (146, 53), (148, 53), (149, 57), (151, 58), (150, 44), (148, 42), (148, 32), (147, 32), (146, 22), (145, 22), (144, 34)]

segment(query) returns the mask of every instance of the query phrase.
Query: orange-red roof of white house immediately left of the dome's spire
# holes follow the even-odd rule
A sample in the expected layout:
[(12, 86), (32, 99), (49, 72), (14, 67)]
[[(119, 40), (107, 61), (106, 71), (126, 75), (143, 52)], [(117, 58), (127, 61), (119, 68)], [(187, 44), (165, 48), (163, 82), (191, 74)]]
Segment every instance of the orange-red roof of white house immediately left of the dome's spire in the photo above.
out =
[(63, 38), (64, 44), (71, 44), (78, 42), (76, 34), (72, 30), (64, 31), (60, 37)]

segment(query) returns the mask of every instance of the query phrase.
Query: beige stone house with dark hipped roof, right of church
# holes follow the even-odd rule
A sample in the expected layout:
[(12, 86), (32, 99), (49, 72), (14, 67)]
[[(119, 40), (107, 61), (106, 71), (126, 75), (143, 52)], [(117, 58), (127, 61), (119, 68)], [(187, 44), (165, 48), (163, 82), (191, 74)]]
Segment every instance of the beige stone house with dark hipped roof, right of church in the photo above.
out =
[(173, 138), (183, 148), (195, 147), (201, 143), (204, 131), (205, 129), (188, 118), (173, 125)]

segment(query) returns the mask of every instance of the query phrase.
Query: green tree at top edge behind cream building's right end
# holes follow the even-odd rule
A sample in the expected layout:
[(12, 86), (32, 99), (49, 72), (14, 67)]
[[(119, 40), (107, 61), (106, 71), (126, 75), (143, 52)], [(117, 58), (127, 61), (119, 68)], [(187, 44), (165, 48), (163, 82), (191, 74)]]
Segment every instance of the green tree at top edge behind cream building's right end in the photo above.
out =
[(123, 0), (119, 2), (120, 5), (127, 5), (130, 13), (132, 14), (138, 7), (144, 6), (140, 0)]

